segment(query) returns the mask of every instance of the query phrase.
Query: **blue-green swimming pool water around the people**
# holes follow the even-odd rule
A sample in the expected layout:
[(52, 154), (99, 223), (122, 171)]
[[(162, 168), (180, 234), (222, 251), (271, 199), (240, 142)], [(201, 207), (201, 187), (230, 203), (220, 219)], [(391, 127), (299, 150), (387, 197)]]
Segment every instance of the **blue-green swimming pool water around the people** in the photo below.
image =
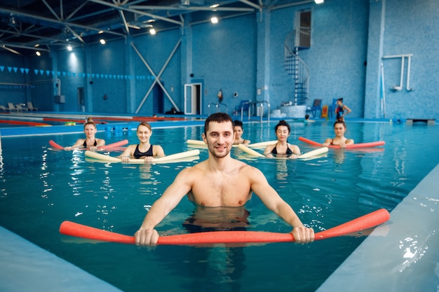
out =
[[(275, 123), (244, 125), (243, 137), (275, 139)], [(302, 152), (313, 148), (298, 137), (323, 141), (332, 123), (293, 123), (289, 141)], [(187, 150), (187, 139), (201, 139), (202, 127), (154, 129), (152, 141), (167, 154)], [(62, 221), (132, 235), (156, 198), (183, 168), (166, 165), (103, 164), (82, 152), (52, 151), (48, 140), (71, 145), (82, 134), (2, 139), (0, 225), (69, 260), (123, 291), (315, 291), (356, 249), (364, 237), (338, 237), (307, 245), (266, 244), (227, 248), (90, 243), (59, 235)], [(97, 137), (105, 137), (98, 133)], [(356, 142), (386, 141), (367, 151), (330, 150), (308, 161), (245, 159), (266, 174), (271, 185), (299, 213), (302, 222), (323, 230), (379, 208), (393, 209), (438, 164), (436, 126), (349, 123), (346, 137)], [(107, 136), (107, 144), (135, 134)], [(201, 160), (207, 149), (201, 148)], [(257, 199), (248, 202), (250, 230), (288, 232)], [(185, 232), (182, 222), (194, 206), (187, 200), (158, 230)]]

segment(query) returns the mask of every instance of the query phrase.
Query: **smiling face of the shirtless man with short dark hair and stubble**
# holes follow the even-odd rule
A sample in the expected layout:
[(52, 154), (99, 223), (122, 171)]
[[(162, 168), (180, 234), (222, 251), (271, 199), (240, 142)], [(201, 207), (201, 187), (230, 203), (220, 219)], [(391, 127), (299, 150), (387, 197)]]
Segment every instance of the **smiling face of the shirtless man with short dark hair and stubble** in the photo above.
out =
[(234, 126), (230, 122), (210, 122), (208, 132), (203, 134), (203, 140), (214, 157), (226, 157), (234, 142)]

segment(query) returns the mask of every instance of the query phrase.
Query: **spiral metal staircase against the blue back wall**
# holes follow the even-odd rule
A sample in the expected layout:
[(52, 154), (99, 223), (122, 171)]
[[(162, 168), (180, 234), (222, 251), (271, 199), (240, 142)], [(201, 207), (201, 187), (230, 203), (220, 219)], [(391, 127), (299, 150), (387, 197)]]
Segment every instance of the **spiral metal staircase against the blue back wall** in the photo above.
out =
[(300, 27), (288, 34), (284, 43), (285, 71), (294, 81), (294, 105), (306, 104), (309, 94), (309, 70), (305, 62), (299, 57), (299, 50), (311, 46), (310, 29)]

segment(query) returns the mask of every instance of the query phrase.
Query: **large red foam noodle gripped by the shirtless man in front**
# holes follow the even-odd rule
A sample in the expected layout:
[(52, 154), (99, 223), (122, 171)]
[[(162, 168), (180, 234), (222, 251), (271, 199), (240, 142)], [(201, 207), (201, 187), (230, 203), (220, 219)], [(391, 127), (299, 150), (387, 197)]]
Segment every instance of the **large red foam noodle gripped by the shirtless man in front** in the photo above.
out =
[[(331, 237), (349, 235), (353, 232), (365, 230), (380, 225), (390, 218), (389, 211), (379, 209), (369, 214), (338, 225), (314, 235), (314, 240), (328, 239)], [(133, 236), (100, 230), (87, 225), (64, 221), (60, 225), (60, 233), (74, 237), (100, 240), (103, 242), (119, 242), (134, 244)], [(211, 231), (197, 232), (181, 235), (166, 235), (158, 237), (158, 245), (196, 245), (196, 244), (231, 244), (231, 243), (271, 243), (294, 242), (291, 233), (265, 232), (265, 231)]]

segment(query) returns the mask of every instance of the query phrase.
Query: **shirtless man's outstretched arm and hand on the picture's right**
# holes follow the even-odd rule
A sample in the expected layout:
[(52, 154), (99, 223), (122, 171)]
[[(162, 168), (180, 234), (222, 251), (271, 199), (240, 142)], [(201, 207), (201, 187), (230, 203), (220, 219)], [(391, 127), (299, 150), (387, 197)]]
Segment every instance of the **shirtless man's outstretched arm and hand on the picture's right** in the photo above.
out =
[(303, 225), (292, 207), (269, 185), (264, 174), (262, 174), (259, 169), (252, 167), (249, 169), (248, 175), (251, 176), (250, 181), (252, 182), (251, 187), (253, 192), (262, 200), (267, 208), (275, 212), (292, 226), (292, 235), (295, 238), (295, 242), (313, 242), (314, 230), (312, 228), (306, 228)]

